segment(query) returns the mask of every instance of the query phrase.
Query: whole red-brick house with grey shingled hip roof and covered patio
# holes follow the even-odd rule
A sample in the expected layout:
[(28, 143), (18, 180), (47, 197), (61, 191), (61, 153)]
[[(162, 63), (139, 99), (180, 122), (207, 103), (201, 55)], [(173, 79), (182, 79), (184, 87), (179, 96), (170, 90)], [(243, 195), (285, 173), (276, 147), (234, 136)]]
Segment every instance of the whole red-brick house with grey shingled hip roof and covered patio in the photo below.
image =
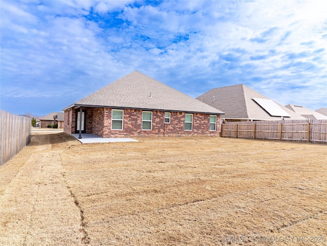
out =
[(103, 138), (219, 136), (224, 114), (137, 71), (62, 110), (64, 132)]

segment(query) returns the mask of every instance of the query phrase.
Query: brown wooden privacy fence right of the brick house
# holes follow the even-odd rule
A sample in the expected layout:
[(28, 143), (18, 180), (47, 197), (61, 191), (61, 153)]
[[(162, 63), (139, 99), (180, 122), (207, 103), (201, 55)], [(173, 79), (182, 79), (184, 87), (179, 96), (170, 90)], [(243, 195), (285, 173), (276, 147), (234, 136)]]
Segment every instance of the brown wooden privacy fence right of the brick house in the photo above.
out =
[(327, 120), (226, 122), (221, 137), (327, 143)]

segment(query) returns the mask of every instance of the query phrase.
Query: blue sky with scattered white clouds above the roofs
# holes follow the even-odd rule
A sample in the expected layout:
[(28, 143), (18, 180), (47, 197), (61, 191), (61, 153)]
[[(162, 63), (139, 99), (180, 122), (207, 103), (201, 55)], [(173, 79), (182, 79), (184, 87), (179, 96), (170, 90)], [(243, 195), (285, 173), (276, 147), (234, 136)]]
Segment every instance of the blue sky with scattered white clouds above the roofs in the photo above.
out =
[(1, 109), (47, 115), (137, 70), (327, 107), (327, 1), (3, 1)]

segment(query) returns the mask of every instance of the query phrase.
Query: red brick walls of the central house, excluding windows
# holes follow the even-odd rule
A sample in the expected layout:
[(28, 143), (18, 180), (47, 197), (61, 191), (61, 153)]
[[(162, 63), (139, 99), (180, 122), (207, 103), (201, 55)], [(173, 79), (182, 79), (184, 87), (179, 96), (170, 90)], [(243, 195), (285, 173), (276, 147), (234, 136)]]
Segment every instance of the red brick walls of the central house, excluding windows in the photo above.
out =
[[(219, 136), (220, 116), (217, 115), (217, 130), (209, 130), (210, 116), (193, 114), (193, 129), (184, 130), (185, 113), (171, 112), (170, 123), (165, 123), (165, 111), (152, 111), (152, 130), (142, 130), (140, 109), (124, 109), (123, 130), (111, 129), (111, 108), (83, 107), (86, 110), (86, 133), (103, 138), (154, 137), (154, 136)], [(69, 121), (68, 121), (69, 120)], [(75, 133), (76, 111), (64, 113), (64, 132)]]

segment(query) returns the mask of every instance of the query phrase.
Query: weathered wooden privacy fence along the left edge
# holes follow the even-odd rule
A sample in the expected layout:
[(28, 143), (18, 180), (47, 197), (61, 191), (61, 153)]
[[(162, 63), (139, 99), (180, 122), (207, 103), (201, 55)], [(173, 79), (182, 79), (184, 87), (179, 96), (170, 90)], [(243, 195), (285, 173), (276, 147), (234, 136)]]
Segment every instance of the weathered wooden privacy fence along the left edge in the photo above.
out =
[(0, 109), (0, 166), (31, 142), (31, 118)]

